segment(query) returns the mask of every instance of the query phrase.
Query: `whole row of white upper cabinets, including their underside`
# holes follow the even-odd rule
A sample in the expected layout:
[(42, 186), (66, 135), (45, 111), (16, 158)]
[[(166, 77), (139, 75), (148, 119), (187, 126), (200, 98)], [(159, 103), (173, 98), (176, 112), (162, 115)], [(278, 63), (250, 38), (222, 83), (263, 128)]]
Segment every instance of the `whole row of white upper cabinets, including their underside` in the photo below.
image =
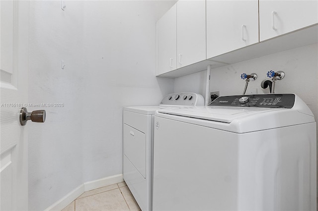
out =
[(157, 22), (157, 76), (318, 42), (318, 0), (178, 0)]

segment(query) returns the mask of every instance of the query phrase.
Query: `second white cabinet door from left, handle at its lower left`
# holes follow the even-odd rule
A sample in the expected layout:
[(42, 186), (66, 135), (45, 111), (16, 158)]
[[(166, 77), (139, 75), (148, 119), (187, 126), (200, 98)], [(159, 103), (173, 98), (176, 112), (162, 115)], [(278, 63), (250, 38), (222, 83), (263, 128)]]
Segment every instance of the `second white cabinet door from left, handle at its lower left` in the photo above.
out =
[(205, 0), (179, 0), (177, 5), (177, 68), (206, 59)]

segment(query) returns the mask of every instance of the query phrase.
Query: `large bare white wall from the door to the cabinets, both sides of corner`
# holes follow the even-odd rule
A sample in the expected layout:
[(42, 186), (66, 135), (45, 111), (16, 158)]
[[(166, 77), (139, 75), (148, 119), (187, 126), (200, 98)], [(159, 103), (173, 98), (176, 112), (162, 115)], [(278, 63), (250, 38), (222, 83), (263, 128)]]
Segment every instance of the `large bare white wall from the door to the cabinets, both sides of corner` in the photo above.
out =
[(122, 107), (159, 105), (174, 89), (155, 77), (156, 20), (173, 1), (65, 2), (30, 1), (28, 103), (64, 106), (28, 123), (29, 210), (122, 173)]

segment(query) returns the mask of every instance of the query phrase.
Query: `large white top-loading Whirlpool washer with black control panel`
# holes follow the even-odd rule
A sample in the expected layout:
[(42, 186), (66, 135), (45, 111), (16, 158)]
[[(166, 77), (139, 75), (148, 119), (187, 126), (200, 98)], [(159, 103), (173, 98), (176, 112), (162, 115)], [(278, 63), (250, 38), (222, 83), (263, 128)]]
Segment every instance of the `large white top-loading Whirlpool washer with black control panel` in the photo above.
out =
[(155, 211), (316, 211), (316, 122), (294, 94), (155, 115)]

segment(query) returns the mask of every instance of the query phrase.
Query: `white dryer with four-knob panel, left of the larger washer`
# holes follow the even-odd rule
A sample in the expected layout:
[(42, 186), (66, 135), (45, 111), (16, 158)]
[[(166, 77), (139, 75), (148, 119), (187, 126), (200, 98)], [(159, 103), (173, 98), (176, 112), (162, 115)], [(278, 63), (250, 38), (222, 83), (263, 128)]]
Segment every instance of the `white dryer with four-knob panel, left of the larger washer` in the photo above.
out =
[(154, 114), (161, 108), (202, 106), (195, 93), (165, 96), (159, 106), (123, 108), (123, 174), (130, 191), (143, 211), (152, 210)]

